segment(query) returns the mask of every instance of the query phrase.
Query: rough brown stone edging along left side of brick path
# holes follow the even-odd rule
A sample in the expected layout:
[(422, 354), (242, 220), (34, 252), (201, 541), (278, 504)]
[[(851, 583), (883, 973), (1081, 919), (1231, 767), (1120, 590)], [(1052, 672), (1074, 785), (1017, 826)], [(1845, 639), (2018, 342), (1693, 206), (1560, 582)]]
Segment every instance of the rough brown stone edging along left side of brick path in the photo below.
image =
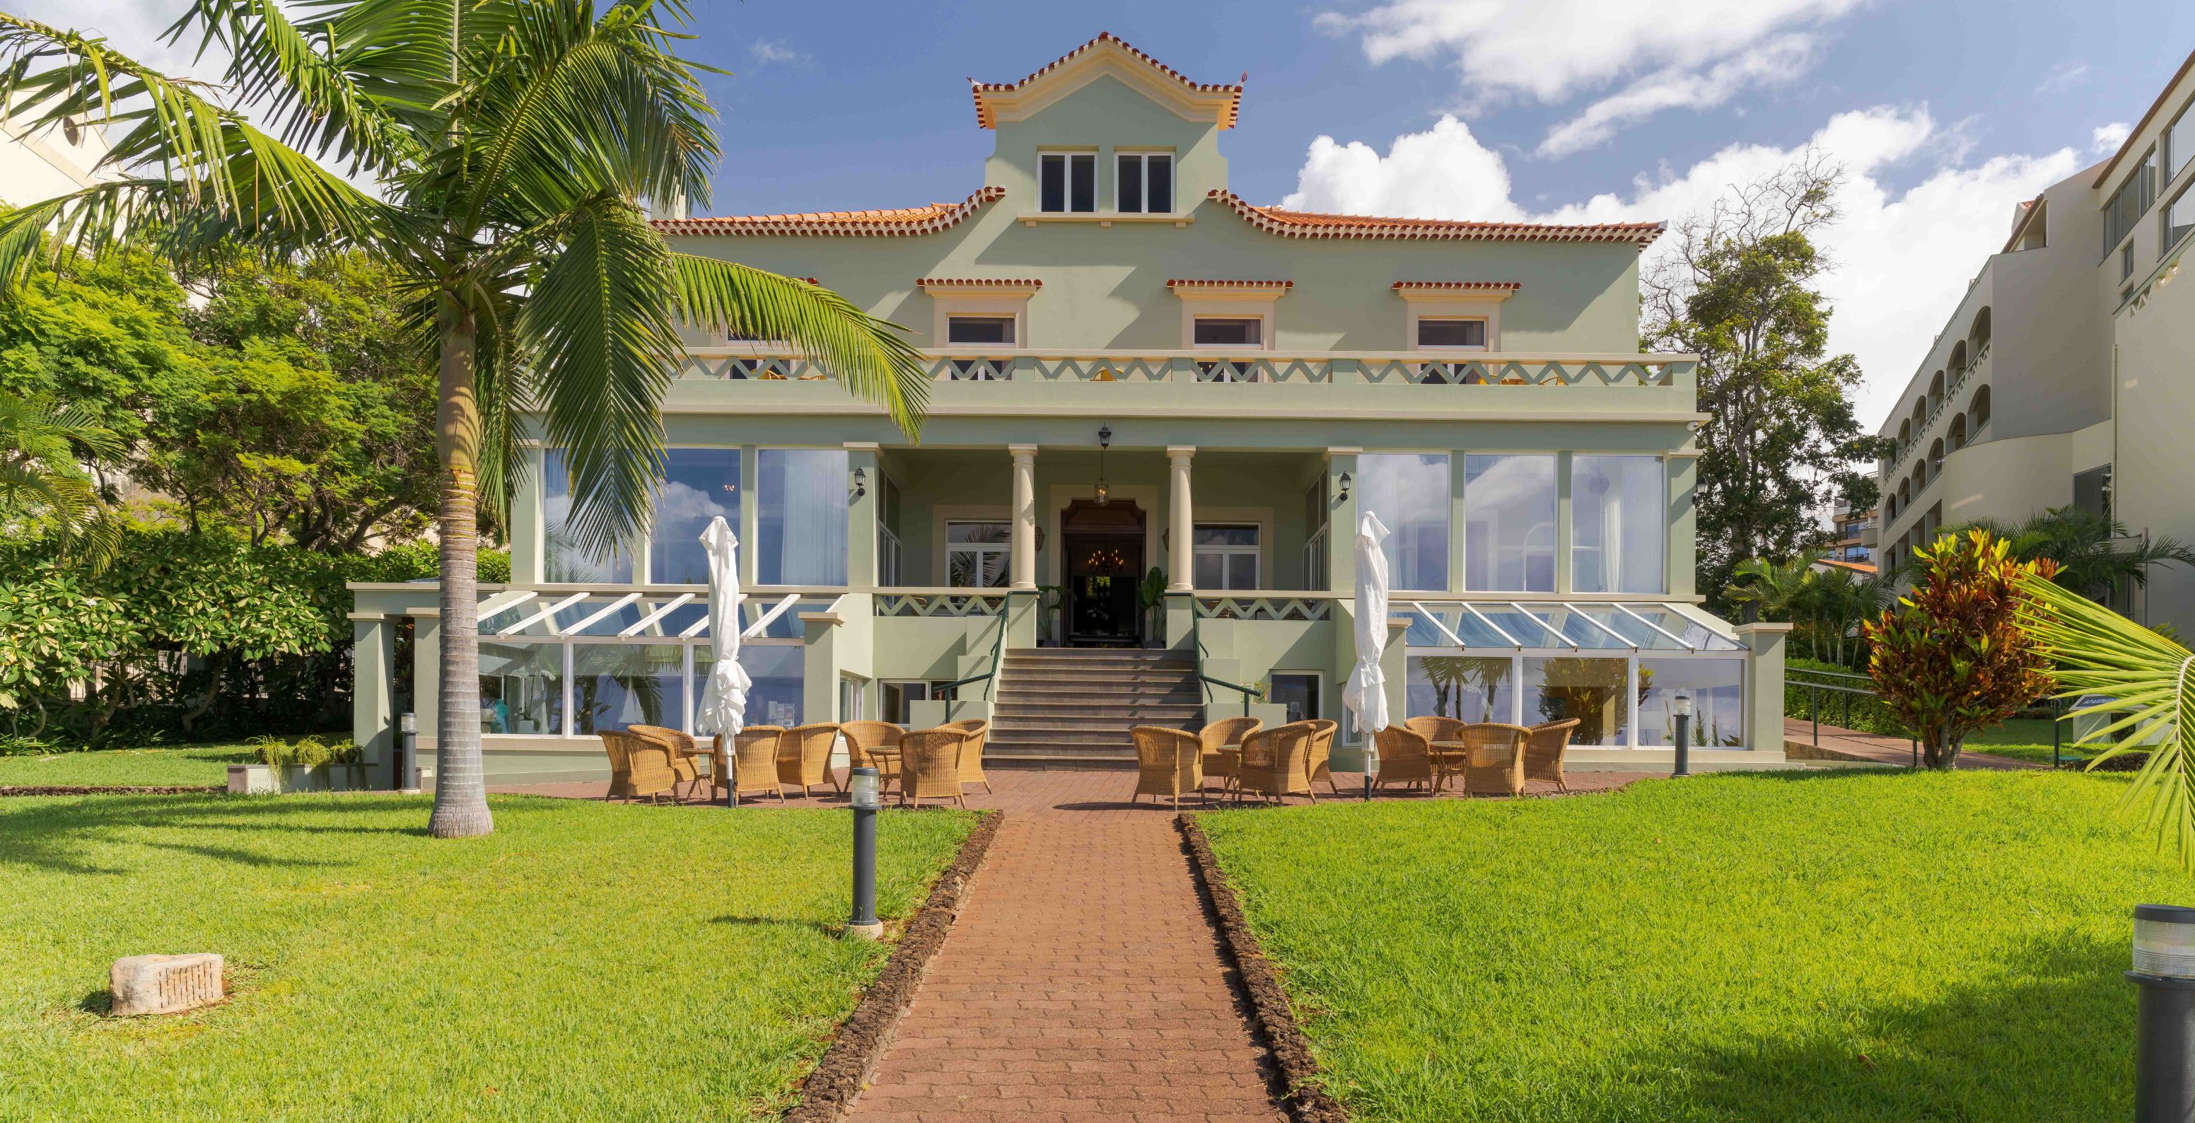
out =
[(885, 961), (882, 974), (876, 976), (876, 983), (854, 1005), (854, 1013), (847, 1013), (845, 1022), (838, 1022), (830, 1046), (823, 1048), (823, 1057), (817, 1059), (814, 1070), (801, 1081), (801, 1099), (786, 1112), (784, 1123), (834, 1123), (854, 1108), (854, 1099), (860, 1097), (869, 1075), (876, 1073), (885, 1046), (891, 1044), (900, 1013), (915, 1000), (915, 989), (922, 987), (922, 976), (931, 958), (937, 956), (937, 950), (946, 943), (946, 934), (953, 932), (953, 921), (968, 899), (968, 884), (990, 853), (1001, 823), (1005, 823), (1003, 812), (986, 812), (975, 831), (968, 831), (959, 853), (953, 855), (953, 864), (931, 884), (928, 899), (907, 919), (900, 941), (891, 948), (891, 958)]

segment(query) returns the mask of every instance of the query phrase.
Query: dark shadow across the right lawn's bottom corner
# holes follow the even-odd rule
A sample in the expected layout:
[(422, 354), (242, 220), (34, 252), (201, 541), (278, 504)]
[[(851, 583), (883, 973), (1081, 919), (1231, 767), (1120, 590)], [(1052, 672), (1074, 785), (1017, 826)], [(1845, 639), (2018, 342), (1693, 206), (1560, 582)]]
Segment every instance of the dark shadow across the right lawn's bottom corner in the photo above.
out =
[[(1710, 1119), (2127, 1119), (2134, 989), (2125, 943), (2063, 937), (1997, 961), (1989, 983), (1861, 1005), (1844, 1031), (1640, 1051), (1642, 1101), (1611, 1088), (1585, 1119), (1646, 1119), (1688, 1103)], [(1675, 1081), (1675, 1086), (1670, 1084)]]

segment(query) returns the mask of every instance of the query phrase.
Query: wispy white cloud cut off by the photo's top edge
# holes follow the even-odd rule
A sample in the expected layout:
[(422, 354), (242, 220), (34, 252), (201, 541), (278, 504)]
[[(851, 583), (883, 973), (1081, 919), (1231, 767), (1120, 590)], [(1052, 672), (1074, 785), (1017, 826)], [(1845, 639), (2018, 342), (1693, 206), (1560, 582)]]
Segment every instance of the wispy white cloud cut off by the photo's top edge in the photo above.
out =
[[(1813, 66), (1824, 24), (1866, 0), (1387, 0), (1363, 15), (1321, 13), (1317, 26), (1354, 33), (1370, 61), (1453, 57), (1473, 105), (1561, 103), (1622, 83), (1556, 125), (1541, 145), (1561, 156), (1673, 107), (1712, 107), (1738, 90), (1789, 81)], [(1644, 75), (1644, 77), (1637, 77)]]

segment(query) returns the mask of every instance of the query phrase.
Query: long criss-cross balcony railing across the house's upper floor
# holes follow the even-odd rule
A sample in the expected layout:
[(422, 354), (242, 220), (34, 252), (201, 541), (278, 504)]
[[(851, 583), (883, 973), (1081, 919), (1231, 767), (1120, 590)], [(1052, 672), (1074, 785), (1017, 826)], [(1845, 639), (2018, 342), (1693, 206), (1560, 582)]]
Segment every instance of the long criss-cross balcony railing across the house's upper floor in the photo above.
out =
[[(1411, 386), (1675, 386), (1690, 355), (1427, 355), (1275, 351), (926, 351), (933, 382), (1234, 382), (1234, 384), (1411, 384)], [(823, 382), (819, 362), (770, 353), (689, 353), (678, 377), (731, 382)]]

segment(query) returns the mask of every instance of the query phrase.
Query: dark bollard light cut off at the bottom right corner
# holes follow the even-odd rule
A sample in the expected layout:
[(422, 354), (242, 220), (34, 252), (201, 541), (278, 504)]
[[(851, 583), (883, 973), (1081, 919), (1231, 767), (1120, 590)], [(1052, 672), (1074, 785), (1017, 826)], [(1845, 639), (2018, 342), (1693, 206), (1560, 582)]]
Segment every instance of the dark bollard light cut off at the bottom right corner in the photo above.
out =
[(2195, 908), (2134, 906), (2134, 1123), (2195, 1119)]

